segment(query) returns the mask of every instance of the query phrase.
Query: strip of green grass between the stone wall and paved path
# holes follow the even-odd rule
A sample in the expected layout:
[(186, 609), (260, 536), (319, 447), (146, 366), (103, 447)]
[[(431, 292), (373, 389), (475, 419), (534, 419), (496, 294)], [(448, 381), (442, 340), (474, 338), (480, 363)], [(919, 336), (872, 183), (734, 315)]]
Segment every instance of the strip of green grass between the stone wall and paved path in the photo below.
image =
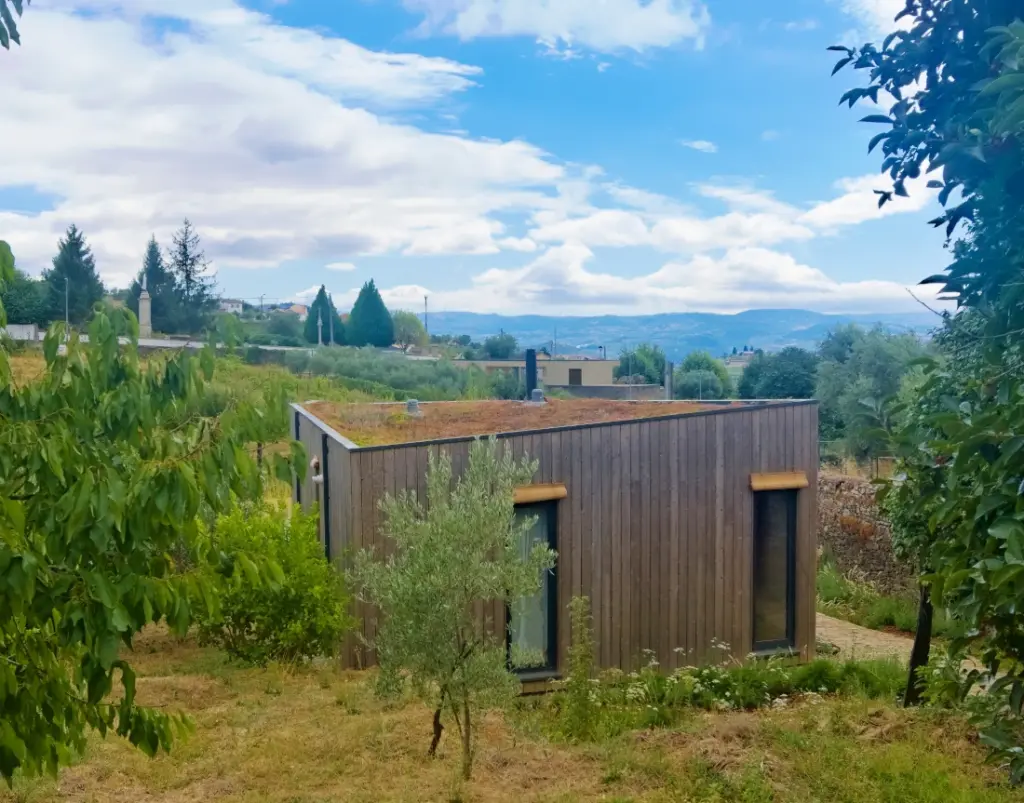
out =
[[(818, 610), (871, 630), (897, 630), (913, 634), (918, 629), (918, 599), (910, 595), (881, 594), (869, 583), (846, 577), (834, 563), (823, 560), (817, 576)], [(961, 625), (944, 610), (935, 611), (932, 635), (951, 638)]]

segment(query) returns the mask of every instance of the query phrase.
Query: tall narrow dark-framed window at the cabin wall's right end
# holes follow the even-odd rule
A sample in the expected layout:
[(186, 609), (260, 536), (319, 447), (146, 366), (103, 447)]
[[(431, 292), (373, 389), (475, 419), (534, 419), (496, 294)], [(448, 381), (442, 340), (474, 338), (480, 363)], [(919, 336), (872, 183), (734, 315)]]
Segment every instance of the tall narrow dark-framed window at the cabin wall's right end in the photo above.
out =
[(792, 647), (796, 630), (797, 492), (754, 495), (754, 649)]

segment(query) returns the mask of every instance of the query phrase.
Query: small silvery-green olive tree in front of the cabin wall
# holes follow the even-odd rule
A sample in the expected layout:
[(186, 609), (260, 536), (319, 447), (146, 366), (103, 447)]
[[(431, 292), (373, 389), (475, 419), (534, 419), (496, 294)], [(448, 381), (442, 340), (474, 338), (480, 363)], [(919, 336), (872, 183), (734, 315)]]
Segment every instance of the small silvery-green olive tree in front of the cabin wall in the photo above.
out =
[(381, 692), (399, 693), (408, 679), (435, 708), (432, 751), (441, 717), (451, 715), (462, 736), (467, 778), (474, 711), (510, 700), (519, 687), (506, 663), (504, 622), (481, 628), (474, 608), (536, 593), (542, 573), (555, 562), (554, 552), (540, 544), (526, 560), (520, 556), (520, 541), (534, 522), (515, 523), (513, 492), (536, 470), (494, 438), (472, 445), (457, 480), (449, 456), (431, 455), (426, 500), (402, 492), (382, 503), (394, 554), (376, 560), (362, 553), (356, 560), (362, 598), (383, 615), (374, 645)]

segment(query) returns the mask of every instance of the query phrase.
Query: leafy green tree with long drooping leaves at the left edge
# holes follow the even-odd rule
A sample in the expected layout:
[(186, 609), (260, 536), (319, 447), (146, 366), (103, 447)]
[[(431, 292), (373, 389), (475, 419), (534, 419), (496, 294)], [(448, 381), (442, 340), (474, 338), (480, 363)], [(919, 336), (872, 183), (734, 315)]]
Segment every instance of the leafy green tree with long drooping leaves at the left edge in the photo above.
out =
[[(155, 622), (184, 632), (216, 604), (210, 584), (178, 570), (215, 556), (197, 523), (233, 496), (261, 493), (247, 445), (287, 426), (280, 396), (266, 412), (238, 404), (205, 415), (214, 357), (181, 352), (143, 368), (137, 324), (98, 312), (89, 343), (57, 325), (47, 370), (14, 385), (0, 350), (0, 774), (55, 771), (89, 728), (114, 731), (148, 754), (170, 747), (183, 721), (135, 700), (122, 645)], [(202, 370), (200, 367), (202, 365)], [(301, 450), (270, 456), (282, 475)], [(240, 558), (247, 575), (253, 561)], [(120, 676), (123, 692), (109, 702)]]

